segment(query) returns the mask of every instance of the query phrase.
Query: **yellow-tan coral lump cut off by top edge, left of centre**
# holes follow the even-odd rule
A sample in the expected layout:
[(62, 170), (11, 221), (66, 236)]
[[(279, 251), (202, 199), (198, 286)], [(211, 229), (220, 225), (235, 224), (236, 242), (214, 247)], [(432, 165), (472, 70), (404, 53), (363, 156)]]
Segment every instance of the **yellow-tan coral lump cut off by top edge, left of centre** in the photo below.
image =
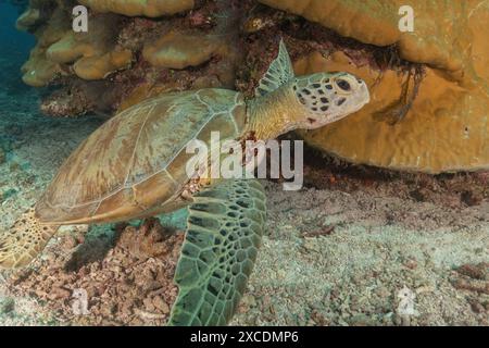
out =
[(193, 9), (193, 0), (79, 0), (98, 12), (159, 17)]

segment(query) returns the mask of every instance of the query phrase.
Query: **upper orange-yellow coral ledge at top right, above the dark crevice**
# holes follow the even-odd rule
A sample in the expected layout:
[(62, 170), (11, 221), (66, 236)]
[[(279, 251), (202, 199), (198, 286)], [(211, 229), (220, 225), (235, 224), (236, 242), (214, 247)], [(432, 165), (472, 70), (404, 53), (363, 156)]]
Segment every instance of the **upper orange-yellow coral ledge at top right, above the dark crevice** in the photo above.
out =
[[(401, 33), (399, 9), (403, 0), (259, 0), (331, 28), (365, 44), (397, 44), (401, 58), (426, 63), (462, 80), (467, 71), (464, 52), (471, 47), (467, 18), (484, 0), (413, 1), (415, 30)], [(484, 11), (482, 9), (477, 9)]]

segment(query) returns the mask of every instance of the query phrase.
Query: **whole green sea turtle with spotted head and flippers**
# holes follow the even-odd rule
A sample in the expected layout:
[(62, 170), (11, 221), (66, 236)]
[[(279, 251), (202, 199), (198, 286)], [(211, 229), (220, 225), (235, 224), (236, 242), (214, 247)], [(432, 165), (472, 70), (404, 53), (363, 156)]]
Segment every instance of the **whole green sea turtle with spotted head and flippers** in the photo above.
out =
[(211, 130), (222, 140), (243, 140), (316, 128), (368, 101), (365, 83), (348, 73), (294, 77), (283, 41), (251, 100), (214, 88), (148, 99), (109, 120), (71, 154), (35, 208), (0, 235), (0, 265), (28, 264), (60, 225), (127, 221), (187, 207), (170, 324), (226, 324), (256, 257), (265, 195), (254, 178), (189, 177), (186, 145), (209, 142)]

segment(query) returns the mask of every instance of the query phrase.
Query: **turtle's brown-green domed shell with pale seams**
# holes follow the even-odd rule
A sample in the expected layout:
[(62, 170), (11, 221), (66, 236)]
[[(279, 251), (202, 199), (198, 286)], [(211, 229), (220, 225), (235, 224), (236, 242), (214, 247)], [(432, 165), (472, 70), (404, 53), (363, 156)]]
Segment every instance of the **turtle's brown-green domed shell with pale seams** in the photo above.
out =
[(239, 138), (246, 121), (240, 94), (201, 89), (166, 94), (136, 104), (103, 124), (61, 166), (36, 215), (42, 223), (75, 224), (135, 219), (171, 204), (189, 178), (192, 139)]

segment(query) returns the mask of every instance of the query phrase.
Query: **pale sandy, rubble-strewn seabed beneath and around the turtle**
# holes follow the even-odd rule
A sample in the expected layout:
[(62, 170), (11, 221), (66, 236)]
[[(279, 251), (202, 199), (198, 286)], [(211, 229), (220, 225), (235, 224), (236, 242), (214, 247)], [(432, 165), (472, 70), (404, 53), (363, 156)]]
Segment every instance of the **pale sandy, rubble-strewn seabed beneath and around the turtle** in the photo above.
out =
[[(103, 122), (50, 120), (37, 104), (33, 90), (0, 91), (0, 231)], [(489, 324), (487, 173), (387, 175), (318, 159), (300, 191), (264, 182), (268, 228), (231, 324)], [(0, 273), (0, 324), (164, 324), (184, 221), (63, 228), (30, 268)], [(86, 316), (72, 312), (79, 287)]]

